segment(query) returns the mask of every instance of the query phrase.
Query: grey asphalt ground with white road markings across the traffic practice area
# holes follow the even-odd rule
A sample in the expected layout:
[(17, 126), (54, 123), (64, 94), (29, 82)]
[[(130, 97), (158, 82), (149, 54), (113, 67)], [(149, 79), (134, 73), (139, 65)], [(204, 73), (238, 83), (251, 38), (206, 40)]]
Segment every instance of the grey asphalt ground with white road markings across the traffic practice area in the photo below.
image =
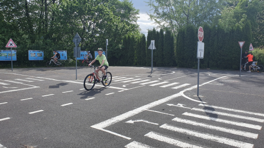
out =
[(109, 67), (0, 69), (0, 148), (264, 148), (264, 73)]

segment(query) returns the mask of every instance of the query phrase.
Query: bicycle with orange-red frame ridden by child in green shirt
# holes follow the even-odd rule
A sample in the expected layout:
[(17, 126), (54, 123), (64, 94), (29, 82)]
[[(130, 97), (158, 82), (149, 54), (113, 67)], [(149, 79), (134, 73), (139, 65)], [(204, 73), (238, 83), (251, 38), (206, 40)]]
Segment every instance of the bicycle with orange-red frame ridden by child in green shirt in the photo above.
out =
[[(110, 72), (106, 72), (106, 74), (108, 75), (108, 78), (106, 80), (104, 79), (104, 74), (102, 73), (102, 76), (99, 76), (98, 73), (96, 73), (96, 68), (98, 68), (98, 66), (92, 66), (91, 67), (94, 68), (94, 72), (91, 74), (88, 74), (83, 82), (83, 86), (86, 90), (92, 90), (95, 86), (96, 83), (100, 83), (102, 82), (102, 84), (104, 86), (109, 86), (111, 81), (112, 81), (112, 74)], [(98, 81), (96, 81), (96, 77), (98, 78)]]

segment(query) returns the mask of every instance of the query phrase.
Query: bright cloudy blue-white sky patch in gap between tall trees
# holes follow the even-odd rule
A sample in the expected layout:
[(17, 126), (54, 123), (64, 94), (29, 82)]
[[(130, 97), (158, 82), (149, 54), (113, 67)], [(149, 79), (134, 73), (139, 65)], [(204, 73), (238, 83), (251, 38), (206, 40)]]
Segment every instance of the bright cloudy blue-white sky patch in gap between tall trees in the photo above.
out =
[[(139, 24), (140, 28), (141, 28), (141, 32), (148, 32), (147, 29), (152, 29), (155, 25), (153, 24), (153, 22), (151, 20), (149, 20), (149, 16), (147, 14), (147, 12), (150, 11), (150, 7), (148, 6), (148, 4), (144, 1), (148, 1), (148, 0), (131, 0), (133, 3), (133, 6), (136, 9), (139, 9), (139, 19), (137, 21), (137, 23)], [(147, 33), (144, 33), (147, 37)]]

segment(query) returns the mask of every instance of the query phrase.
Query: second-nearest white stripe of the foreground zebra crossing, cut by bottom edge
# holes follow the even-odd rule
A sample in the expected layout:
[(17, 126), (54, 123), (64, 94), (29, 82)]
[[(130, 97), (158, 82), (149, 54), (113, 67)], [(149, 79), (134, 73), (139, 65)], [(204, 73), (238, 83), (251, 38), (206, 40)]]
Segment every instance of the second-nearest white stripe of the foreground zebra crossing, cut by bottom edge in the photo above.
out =
[(156, 132), (149, 132), (148, 134), (146, 134), (144, 136), (149, 137), (151, 139), (158, 140), (158, 141), (162, 141), (162, 142), (174, 145), (174, 146), (178, 146), (181, 148), (203, 148), (203, 147), (199, 147), (199, 146), (195, 146), (195, 145), (191, 145), (188, 143), (181, 142), (179, 140), (176, 140), (174, 138), (170, 138), (168, 136), (165, 136), (165, 135), (162, 135), (162, 134), (159, 134)]

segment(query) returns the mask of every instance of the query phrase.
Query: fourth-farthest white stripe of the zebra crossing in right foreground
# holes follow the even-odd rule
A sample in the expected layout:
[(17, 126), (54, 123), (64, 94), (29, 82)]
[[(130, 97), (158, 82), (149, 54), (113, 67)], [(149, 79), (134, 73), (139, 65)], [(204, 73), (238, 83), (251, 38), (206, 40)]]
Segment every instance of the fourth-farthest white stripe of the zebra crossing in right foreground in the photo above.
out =
[(245, 132), (245, 131), (239, 131), (239, 130), (235, 130), (235, 129), (231, 129), (231, 128), (212, 126), (210, 124), (205, 124), (205, 123), (196, 122), (196, 121), (192, 121), (192, 120), (182, 119), (182, 118), (178, 118), (178, 117), (172, 119), (172, 121), (186, 123), (186, 124), (195, 125), (195, 126), (200, 126), (200, 127), (204, 127), (204, 128), (209, 128), (209, 129), (213, 129), (213, 130), (217, 130), (217, 131), (221, 131), (221, 132), (226, 132), (226, 133), (231, 133), (231, 134), (235, 134), (235, 135), (239, 135), (239, 136), (249, 137), (249, 138), (253, 138), (253, 139), (257, 139), (258, 135), (259, 135), (259, 134), (254, 134), (254, 133)]

